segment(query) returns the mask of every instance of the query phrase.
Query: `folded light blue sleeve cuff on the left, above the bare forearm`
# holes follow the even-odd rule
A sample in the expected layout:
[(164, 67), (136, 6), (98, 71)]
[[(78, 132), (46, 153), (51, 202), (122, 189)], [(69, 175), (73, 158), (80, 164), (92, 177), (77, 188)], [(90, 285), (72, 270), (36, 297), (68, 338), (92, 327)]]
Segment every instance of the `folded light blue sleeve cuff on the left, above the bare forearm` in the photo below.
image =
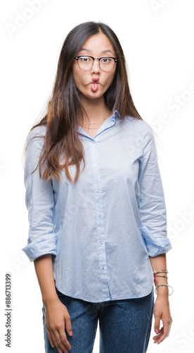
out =
[(25, 252), (30, 261), (34, 261), (39, 256), (46, 255), (46, 253), (56, 256), (56, 240), (53, 235), (51, 239), (48, 239), (48, 234), (46, 234), (41, 237), (41, 240), (38, 237), (35, 238), (22, 251)]

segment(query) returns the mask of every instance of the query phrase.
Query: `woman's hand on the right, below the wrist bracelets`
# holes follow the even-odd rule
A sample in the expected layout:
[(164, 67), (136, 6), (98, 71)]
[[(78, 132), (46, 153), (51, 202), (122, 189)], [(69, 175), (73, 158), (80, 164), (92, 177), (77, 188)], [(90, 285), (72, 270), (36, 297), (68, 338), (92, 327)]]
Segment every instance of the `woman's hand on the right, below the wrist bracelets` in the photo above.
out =
[[(172, 324), (172, 317), (169, 310), (169, 299), (166, 296), (157, 296), (155, 300), (153, 313), (155, 316), (154, 330), (157, 333), (153, 337), (154, 343), (159, 345), (165, 338), (169, 336), (170, 327)], [(160, 328), (160, 319), (162, 320), (163, 326)]]

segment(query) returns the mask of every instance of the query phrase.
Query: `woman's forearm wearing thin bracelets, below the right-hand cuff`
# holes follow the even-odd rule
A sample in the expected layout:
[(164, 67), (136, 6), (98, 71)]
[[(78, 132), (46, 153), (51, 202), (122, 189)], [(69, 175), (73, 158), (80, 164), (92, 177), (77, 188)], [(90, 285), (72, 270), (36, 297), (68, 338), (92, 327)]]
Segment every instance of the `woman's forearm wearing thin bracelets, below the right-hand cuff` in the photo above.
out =
[[(166, 253), (162, 253), (158, 256), (155, 257), (151, 257), (150, 258), (150, 263), (152, 265), (153, 268), (153, 272), (154, 271), (160, 271), (160, 270), (167, 270), (167, 259), (166, 259)], [(157, 275), (165, 275), (167, 276), (167, 273), (158, 273)], [(168, 280), (166, 277), (155, 277), (155, 280), (157, 280), (157, 282), (155, 281), (155, 286), (157, 285), (167, 285), (168, 284)], [(157, 287), (156, 289), (157, 291), (157, 295), (158, 296), (168, 296), (169, 295), (169, 287), (167, 286), (160, 286)]]

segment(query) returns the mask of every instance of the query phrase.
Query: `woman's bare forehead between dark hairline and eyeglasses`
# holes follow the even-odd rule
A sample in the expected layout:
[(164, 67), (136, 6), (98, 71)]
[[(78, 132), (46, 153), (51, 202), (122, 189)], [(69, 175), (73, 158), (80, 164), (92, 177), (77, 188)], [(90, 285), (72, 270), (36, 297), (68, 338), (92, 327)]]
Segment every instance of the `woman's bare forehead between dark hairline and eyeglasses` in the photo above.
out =
[(92, 35), (86, 42), (82, 45), (80, 52), (86, 54), (86, 52), (101, 52), (101, 53), (112, 53), (115, 54), (112, 43), (108, 37), (100, 32), (97, 35)]

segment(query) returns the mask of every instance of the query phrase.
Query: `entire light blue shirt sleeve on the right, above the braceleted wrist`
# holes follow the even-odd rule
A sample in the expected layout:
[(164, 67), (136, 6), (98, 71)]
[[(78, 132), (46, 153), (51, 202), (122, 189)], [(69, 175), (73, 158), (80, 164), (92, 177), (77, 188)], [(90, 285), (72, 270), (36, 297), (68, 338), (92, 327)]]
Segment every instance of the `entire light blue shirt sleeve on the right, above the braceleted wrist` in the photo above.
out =
[(154, 257), (161, 253), (167, 253), (172, 249), (172, 244), (167, 238), (167, 213), (155, 139), (152, 129), (146, 123), (143, 124), (143, 136), (143, 157), (138, 174), (139, 212), (141, 234), (148, 255)]

